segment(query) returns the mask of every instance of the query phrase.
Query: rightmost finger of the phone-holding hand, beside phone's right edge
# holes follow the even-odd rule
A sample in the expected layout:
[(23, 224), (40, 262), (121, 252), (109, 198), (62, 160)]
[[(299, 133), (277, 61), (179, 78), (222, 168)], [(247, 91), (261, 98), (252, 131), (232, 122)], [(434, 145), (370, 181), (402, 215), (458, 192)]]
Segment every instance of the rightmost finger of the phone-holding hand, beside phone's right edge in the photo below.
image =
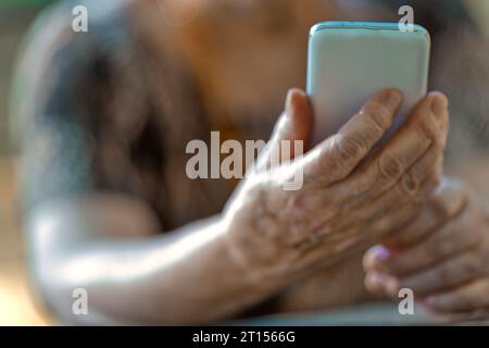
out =
[(438, 92), (424, 98), (413, 112), (410, 121), (378, 152), (372, 161), (364, 162), (361, 171), (352, 175), (343, 185), (343, 190), (354, 196), (356, 204), (371, 201), (394, 185), (418, 159), (404, 184), (411, 190), (419, 185), (434, 167), (435, 159), (442, 156), (448, 134), (448, 100)]

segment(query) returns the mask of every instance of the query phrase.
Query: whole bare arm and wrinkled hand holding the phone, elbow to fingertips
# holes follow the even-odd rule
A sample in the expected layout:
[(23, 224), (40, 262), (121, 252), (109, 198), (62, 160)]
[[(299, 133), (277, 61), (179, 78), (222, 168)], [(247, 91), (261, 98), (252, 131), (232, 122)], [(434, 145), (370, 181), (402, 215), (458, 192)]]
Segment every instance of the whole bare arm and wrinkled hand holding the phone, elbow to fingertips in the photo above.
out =
[[(425, 207), (441, 178), (448, 101), (428, 95), (392, 139), (373, 149), (401, 99), (396, 90), (378, 94), (338, 134), (264, 171), (277, 140), (309, 144), (309, 98), (291, 90), (256, 173), (226, 210), (170, 234), (158, 235), (148, 207), (121, 195), (45, 202), (30, 212), (28, 226), (38, 288), (66, 323), (239, 316), (316, 265), (378, 243)], [(284, 190), (296, 171), (303, 172), (302, 189)], [(88, 315), (72, 312), (72, 290), (79, 287), (90, 294)]]

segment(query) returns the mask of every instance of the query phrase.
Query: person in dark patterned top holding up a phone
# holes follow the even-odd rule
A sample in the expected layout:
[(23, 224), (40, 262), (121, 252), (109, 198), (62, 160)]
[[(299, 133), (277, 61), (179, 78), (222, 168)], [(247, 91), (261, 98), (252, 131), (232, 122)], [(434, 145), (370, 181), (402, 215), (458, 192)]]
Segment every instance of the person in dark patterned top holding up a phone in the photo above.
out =
[[(434, 34), (432, 86), (454, 113), (448, 167), (465, 158), (469, 170), (487, 149), (487, 48), (459, 2), (434, 2), (412, 4)], [(33, 273), (62, 321), (212, 323), (352, 306), (373, 300), (367, 290), (397, 298), (401, 286), (437, 313), (489, 304), (487, 198), (463, 174), (442, 177), (447, 97), (430, 92), (372, 152), (398, 91), (308, 147), (314, 115), (289, 89), (305, 80), (314, 23), (397, 21), (392, 2), (87, 1), (89, 32), (78, 34), (75, 4), (37, 21), (15, 102)], [(186, 145), (211, 130), (269, 137), (258, 173), (237, 187), (190, 179)], [(306, 145), (281, 175), (264, 171), (277, 140)], [(283, 190), (298, 170), (303, 189)], [(72, 312), (76, 288), (89, 315)]]

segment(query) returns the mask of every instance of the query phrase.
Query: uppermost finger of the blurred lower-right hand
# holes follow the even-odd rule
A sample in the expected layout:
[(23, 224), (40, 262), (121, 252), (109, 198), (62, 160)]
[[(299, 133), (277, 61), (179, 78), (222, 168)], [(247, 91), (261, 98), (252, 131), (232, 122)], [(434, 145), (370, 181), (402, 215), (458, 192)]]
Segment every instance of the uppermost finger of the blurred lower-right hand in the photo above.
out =
[(466, 194), (455, 181), (443, 179), (419, 215), (402, 231), (383, 240), (388, 248), (408, 248), (459, 215), (466, 204)]

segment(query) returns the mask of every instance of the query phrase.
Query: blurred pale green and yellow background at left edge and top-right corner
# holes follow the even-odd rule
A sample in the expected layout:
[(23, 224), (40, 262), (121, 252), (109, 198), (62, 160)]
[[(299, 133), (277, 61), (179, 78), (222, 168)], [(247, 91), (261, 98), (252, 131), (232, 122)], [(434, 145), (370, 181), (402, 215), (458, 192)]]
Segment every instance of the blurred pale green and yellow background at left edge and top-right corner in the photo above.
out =
[[(102, 0), (103, 1), (103, 0)], [(266, 0), (263, 0), (266, 1)], [(0, 0), (0, 325), (53, 323), (29, 293), (25, 249), (16, 215), (15, 161), (9, 96), (22, 39), (52, 0)], [(489, 37), (489, 0), (465, 0), (473, 20)], [(304, 34), (305, 35), (305, 34)]]

